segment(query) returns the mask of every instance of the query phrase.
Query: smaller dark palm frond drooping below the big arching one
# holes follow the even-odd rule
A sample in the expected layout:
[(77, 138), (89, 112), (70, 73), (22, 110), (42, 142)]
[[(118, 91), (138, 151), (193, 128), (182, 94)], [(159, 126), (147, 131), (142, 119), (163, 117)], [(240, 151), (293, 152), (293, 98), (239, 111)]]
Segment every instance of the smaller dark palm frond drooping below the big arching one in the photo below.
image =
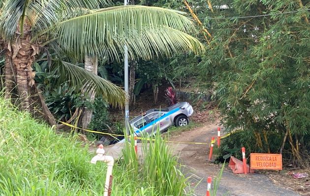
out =
[(101, 94), (106, 98), (112, 106), (123, 107), (126, 96), (121, 87), (68, 62), (59, 61), (54, 66), (54, 69), (57, 69), (60, 74), (58, 82), (68, 82), (77, 91), (81, 91), (84, 89), (85, 84), (88, 84), (90, 87), (87, 89), (88, 91), (94, 89), (97, 94)]

